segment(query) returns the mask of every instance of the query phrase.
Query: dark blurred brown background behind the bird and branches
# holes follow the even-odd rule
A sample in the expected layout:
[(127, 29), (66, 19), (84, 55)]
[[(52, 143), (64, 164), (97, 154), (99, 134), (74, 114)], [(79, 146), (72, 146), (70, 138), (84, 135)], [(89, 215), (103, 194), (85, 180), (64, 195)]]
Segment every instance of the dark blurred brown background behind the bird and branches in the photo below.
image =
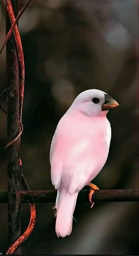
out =
[[(19, 1), (19, 9), (27, 1)], [(54, 189), (49, 148), (59, 119), (78, 93), (106, 91), (120, 103), (108, 113), (110, 153), (94, 179), (100, 189), (138, 189), (138, 1), (34, 0), (19, 21), (25, 57), (23, 171), (31, 189)], [(0, 45), (5, 8), (0, 2)], [(6, 87), (0, 56), (0, 93)], [(0, 99), (6, 109), (6, 95)], [(77, 124), (78, 125), (78, 124)], [(0, 110), (0, 190), (7, 188), (6, 115)], [(89, 189), (89, 188), (88, 188)], [(72, 233), (55, 235), (54, 204), (37, 204), (34, 232), (22, 254), (138, 254), (138, 203), (78, 203)], [(8, 246), (7, 205), (0, 205), (0, 252)], [(22, 231), (29, 205), (22, 205)]]

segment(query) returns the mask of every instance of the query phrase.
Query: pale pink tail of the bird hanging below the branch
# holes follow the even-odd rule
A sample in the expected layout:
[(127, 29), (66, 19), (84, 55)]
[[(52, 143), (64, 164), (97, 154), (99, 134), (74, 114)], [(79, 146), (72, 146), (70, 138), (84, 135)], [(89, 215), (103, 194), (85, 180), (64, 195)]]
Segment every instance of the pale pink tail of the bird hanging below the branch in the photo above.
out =
[(56, 201), (57, 219), (55, 224), (55, 232), (58, 237), (66, 237), (71, 234), (77, 196), (77, 191), (70, 193), (69, 191), (58, 190)]

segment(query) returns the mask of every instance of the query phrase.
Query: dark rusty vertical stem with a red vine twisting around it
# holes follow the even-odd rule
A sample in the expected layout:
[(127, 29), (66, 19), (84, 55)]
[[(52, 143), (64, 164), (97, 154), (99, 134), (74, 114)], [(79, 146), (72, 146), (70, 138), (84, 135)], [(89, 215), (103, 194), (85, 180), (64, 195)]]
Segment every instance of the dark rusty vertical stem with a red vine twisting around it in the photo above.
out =
[[(18, 1), (12, 0), (15, 16), (18, 13)], [(6, 32), (11, 28), (8, 13), (6, 12)], [(7, 74), (7, 135), (8, 143), (19, 132), (19, 68), (18, 54), (14, 35), (12, 34), (6, 44), (6, 74)], [(8, 159), (8, 221), (9, 245), (21, 235), (20, 225), (20, 171), (19, 171), (19, 139), (7, 148)], [(21, 254), (18, 248), (16, 254)]]

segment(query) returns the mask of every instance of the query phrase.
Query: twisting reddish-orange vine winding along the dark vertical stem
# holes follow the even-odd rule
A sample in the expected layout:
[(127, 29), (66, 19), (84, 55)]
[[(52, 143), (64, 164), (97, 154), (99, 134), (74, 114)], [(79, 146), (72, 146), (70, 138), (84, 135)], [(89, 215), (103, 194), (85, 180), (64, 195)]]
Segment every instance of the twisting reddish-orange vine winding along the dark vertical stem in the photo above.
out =
[[(29, 2), (31, 2), (31, 1), (29, 1)], [(29, 2), (28, 2), (28, 4), (29, 4)], [(12, 9), (11, 0), (5, 0), (5, 5), (6, 5), (8, 15), (9, 15), (9, 19), (11, 21), (11, 32), (12, 32), (12, 30), (14, 32), (15, 43), (16, 43), (16, 48), (17, 48), (17, 52), (18, 52), (18, 64), (19, 64), (19, 123), (20, 123), (20, 130), (19, 130), (18, 135), (15, 137), (15, 139), (12, 140), (12, 142), (10, 142), (6, 146), (6, 147), (9, 147), (13, 143), (15, 143), (16, 140), (18, 140), (18, 139), (20, 140), (22, 130), (23, 130), (23, 126), (22, 126), (22, 105), (23, 105), (23, 100), (24, 100), (25, 66), (24, 66), (24, 54), (23, 54), (23, 50), (22, 50), (21, 38), (20, 38), (20, 35), (19, 35), (18, 26), (16, 25), (16, 22), (18, 22), (19, 18), (15, 19), (14, 11)], [(9, 34), (11, 32), (9, 31)], [(9, 34), (8, 34), (8, 36), (9, 36)], [(8, 38), (8, 36), (7, 36), (7, 38)], [(21, 159), (19, 159), (19, 163), (20, 163), (20, 166), (22, 168)], [(21, 169), (21, 175), (22, 175), (22, 169)], [(25, 189), (29, 189), (28, 185), (27, 185), (27, 182), (24, 178), (24, 175), (22, 175), (22, 178), (24, 179)], [(30, 216), (30, 221), (29, 221), (28, 228), (25, 230), (24, 234), (22, 234), (18, 239), (16, 239), (14, 244), (11, 245), (9, 250), (6, 252), (6, 255), (12, 255), (16, 251), (16, 249), (19, 246), (21, 246), (22, 242), (24, 242), (29, 237), (29, 235), (31, 234), (31, 232), (34, 229), (35, 220), (36, 220), (35, 204), (31, 203), (29, 205), (30, 205), (31, 216)]]

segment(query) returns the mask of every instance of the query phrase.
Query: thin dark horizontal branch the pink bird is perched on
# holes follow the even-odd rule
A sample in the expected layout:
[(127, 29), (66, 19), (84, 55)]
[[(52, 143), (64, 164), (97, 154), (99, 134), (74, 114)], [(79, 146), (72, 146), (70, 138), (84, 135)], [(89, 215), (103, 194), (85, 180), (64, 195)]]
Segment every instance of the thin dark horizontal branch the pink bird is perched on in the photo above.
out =
[[(80, 191), (78, 202), (88, 202), (88, 190)], [(13, 193), (14, 194), (14, 193)], [(57, 191), (21, 191), (21, 202), (52, 203), (55, 202)], [(14, 195), (13, 195), (14, 196)], [(105, 189), (95, 191), (94, 202), (135, 202), (139, 201), (138, 189)], [(0, 191), (0, 204), (8, 202), (8, 192)]]

